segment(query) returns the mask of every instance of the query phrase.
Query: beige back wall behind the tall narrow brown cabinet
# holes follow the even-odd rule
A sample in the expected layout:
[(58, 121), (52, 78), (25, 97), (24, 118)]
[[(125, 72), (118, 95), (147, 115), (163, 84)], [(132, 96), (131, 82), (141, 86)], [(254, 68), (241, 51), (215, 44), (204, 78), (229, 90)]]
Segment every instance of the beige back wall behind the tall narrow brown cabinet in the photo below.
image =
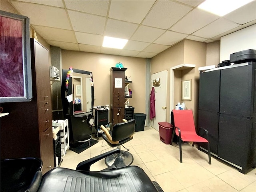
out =
[(110, 104), (110, 68), (121, 62), (127, 68), (125, 75), (131, 76), (132, 98), (135, 113), (146, 112), (146, 59), (98, 53), (62, 50), (62, 67), (92, 72), (94, 80), (94, 106)]

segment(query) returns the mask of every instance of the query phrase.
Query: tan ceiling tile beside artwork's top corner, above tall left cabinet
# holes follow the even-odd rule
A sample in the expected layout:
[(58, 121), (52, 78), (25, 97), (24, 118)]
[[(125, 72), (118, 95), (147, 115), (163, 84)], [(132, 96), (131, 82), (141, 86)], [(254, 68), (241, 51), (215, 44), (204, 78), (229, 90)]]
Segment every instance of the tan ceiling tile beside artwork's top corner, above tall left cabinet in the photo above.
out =
[(57, 29), (50, 27), (43, 27), (38, 25), (32, 25), (36, 32), (40, 34), (45, 40), (55, 40), (63, 42), (76, 43), (76, 37), (74, 31)]

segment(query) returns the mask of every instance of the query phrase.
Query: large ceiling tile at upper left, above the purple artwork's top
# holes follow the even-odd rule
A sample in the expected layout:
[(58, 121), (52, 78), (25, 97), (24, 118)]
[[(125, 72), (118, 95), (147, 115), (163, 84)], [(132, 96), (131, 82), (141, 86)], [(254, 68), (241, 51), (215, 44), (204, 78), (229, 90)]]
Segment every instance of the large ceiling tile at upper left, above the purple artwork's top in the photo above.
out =
[(30, 18), (30, 24), (71, 30), (64, 8), (17, 1), (12, 4), (20, 14)]

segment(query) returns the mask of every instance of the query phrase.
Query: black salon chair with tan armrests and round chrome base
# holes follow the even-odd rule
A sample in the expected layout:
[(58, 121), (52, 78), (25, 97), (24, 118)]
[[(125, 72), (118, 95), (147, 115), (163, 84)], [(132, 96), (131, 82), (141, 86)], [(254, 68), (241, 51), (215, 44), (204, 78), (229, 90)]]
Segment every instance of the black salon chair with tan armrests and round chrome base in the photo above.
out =
[[(104, 131), (102, 138), (108, 143), (110, 147), (117, 147), (120, 149), (122, 144), (125, 144), (126, 142), (133, 139), (135, 120), (131, 119), (127, 121), (123, 119), (123, 121), (124, 122), (115, 124), (112, 131), (110, 132), (108, 132), (108, 130), (103, 125), (100, 126)], [(127, 148), (125, 149), (126, 151), (122, 151), (120, 149), (119, 153), (106, 157), (106, 165), (108, 167), (115, 168), (130, 166), (133, 162), (133, 156), (128, 152), (129, 150)]]

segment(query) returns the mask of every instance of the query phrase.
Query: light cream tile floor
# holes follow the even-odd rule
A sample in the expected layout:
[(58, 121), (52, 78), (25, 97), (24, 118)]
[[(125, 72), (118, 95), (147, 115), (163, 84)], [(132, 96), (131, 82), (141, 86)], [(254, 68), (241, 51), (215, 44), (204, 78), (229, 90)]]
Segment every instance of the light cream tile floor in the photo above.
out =
[[(77, 154), (67, 150), (61, 167), (76, 169), (79, 162), (112, 150), (102, 137), (94, 146)], [(132, 165), (142, 168), (151, 180), (155, 180), (164, 192), (256, 192), (256, 169), (246, 175), (236, 168), (212, 156), (208, 164), (208, 154), (197, 146), (182, 144), (183, 163), (180, 163), (179, 146), (166, 145), (159, 139), (159, 132), (152, 127), (135, 132), (134, 139), (124, 144), (133, 154)], [(96, 162), (91, 170), (106, 168), (104, 160)]]

